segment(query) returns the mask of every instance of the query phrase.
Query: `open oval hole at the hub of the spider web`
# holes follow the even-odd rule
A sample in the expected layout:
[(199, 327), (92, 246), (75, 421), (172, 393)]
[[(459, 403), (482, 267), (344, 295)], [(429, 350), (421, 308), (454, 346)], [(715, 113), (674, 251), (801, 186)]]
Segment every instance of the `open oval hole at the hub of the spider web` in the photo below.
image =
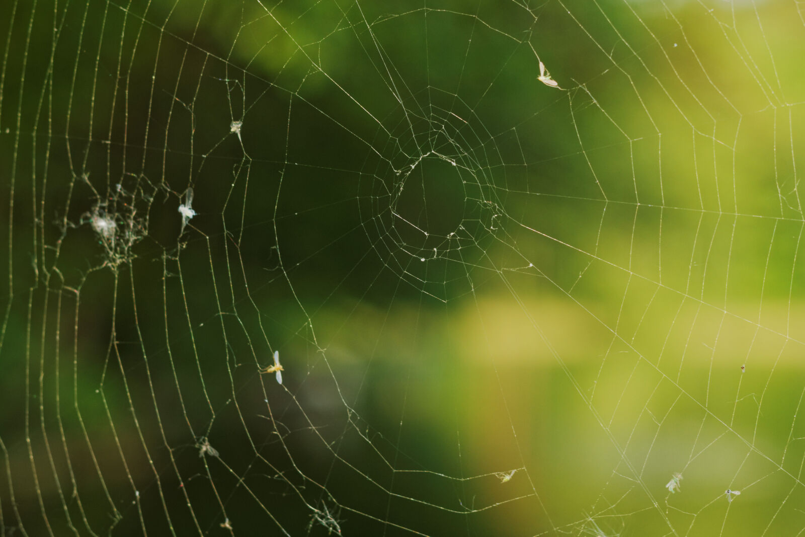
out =
[(428, 237), (446, 237), (464, 218), (466, 193), (460, 168), (438, 156), (427, 156), (408, 173), (394, 213), (403, 242), (421, 245)]

